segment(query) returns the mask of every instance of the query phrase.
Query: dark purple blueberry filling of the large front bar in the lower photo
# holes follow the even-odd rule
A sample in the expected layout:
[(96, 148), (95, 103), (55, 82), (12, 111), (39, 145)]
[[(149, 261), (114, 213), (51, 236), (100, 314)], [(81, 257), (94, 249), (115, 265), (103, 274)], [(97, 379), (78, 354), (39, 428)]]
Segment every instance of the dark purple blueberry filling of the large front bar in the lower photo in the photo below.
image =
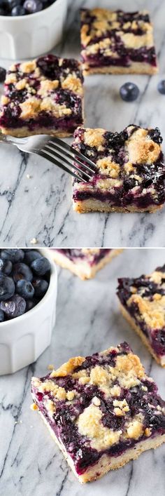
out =
[[(74, 370), (74, 373), (80, 370), (87, 370), (87, 373), (90, 373), (91, 368), (94, 368), (96, 365), (115, 367), (117, 356), (124, 356), (130, 352), (129, 345), (122, 343), (118, 347), (118, 352), (116, 349), (111, 349), (107, 355), (94, 354), (93, 356), (88, 356), (85, 362), (82, 363), (82, 366)], [(45, 403), (48, 399), (53, 401), (50, 391), (46, 390), (46, 381), (49, 379), (55, 382), (55, 384), (64, 387), (65, 391), (71, 391), (72, 389), (76, 391), (76, 397), (73, 402), (55, 399), (55, 412), (52, 415), (48, 413)], [(141, 383), (137, 386), (130, 389), (121, 388), (120, 397), (117, 399), (122, 400), (124, 398), (127, 401), (129, 412), (126, 416), (114, 415), (113, 400), (115, 396), (105, 396), (103, 390), (94, 384), (82, 385), (72, 375), (57, 377), (55, 379), (48, 375), (43, 377), (41, 382), (45, 383), (44, 393), (39, 392), (37, 387), (32, 384), (34, 401), (41, 413), (43, 413), (45, 420), (50, 424), (52, 431), (55, 432), (59, 442), (63, 443), (66, 452), (71, 456), (79, 475), (98, 462), (103, 454), (110, 455), (111, 457), (121, 455), (127, 449), (133, 448), (137, 442), (134, 438), (126, 437), (109, 448), (96, 450), (92, 447), (90, 438), (80, 434), (77, 421), (85, 408), (88, 408), (92, 404), (94, 397), (99, 399), (99, 408), (102, 413), (101, 422), (108, 429), (124, 431), (127, 429), (127, 422), (131, 421), (132, 418), (140, 413), (143, 415), (143, 429), (145, 430), (146, 427), (150, 427), (150, 436), (161, 435), (165, 432), (165, 416), (163, 410), (160, 411), (164, 407), (164, 401), (157, 394), (156, 384), (150, 382), (145, 375)], [(145, 441), (145, 439), (145, 434), (141, 434), (140, 441)]]

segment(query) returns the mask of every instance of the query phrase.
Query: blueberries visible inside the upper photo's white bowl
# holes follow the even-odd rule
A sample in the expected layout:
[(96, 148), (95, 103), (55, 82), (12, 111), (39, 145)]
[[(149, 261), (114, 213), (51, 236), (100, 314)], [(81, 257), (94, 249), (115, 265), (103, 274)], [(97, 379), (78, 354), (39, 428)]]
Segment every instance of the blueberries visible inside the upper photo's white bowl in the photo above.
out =
[(35, 14), (54, 4), (55, 0), (0, 0), (0, 15)]

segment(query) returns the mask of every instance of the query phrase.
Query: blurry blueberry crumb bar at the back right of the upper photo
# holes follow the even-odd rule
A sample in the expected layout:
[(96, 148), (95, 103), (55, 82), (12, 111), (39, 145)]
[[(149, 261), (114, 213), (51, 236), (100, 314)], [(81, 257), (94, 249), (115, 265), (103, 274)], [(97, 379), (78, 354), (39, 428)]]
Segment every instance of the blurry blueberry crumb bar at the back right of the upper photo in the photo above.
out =
[(81, 11), (84, 74), (155, 74), (157, 58), (148, 12)]

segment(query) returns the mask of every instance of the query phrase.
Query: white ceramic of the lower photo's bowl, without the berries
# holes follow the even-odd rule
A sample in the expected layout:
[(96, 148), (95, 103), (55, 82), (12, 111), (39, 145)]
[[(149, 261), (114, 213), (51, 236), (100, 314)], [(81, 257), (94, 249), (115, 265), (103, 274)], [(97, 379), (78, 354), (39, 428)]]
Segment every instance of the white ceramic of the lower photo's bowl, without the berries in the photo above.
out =
[(36, 361), (49, 346), (55, 326), (57, 299), (57, 269), (51, 264), (50, 284), (36, 307), (20, 317), (0, 323), (0, 375), (12, 374)]

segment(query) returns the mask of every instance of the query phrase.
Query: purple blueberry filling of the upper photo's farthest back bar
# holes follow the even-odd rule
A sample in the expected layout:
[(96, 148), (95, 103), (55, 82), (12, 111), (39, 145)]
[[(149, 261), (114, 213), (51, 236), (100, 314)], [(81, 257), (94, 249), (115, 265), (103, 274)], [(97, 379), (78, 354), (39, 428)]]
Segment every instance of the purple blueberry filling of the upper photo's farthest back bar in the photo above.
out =
[[(83, 20), (82, 26), (87, 25), (87, 36), (89, 36), (89, 41), (87, 42), (87, 47), (93, 45), (94, 43), (99, 43), (103, 39), (110, 39), (110, 51), (113, 51), (115, 55), (106, 55), (102, 48), (98, 48), (96, 53), (87, 53), (86, 46), (82, 43), (82, 61), (88, 62), (89, 67), (101, 67), (101, 66), (122, 66), (129, 67), (132, 62), (147, 62), (153, 67), (157, 66), (155, 47), (142, 46), (141, 48), (128, 48), (124, 45), (120, 32), (123, 34), (131, 33), (135, 36), (143, 36), (148, 29), (148, 24), (143, 25), (143, 23), (150, 22), (148, 14), (143, 13), (124, 13), (123, 11), (116, 11), (117, 14), (117, 27), (113, 27), (112, 21), (106, 19), (106, 27), (104, 32), (96, 32), (94, 28), (94, 22), (101, 20), (93, 15), (92, 11), (83, 10)], [(134, 22), (132, 27), (131, 23)], [(95, 35), (94, 35), (95, 29)]]

